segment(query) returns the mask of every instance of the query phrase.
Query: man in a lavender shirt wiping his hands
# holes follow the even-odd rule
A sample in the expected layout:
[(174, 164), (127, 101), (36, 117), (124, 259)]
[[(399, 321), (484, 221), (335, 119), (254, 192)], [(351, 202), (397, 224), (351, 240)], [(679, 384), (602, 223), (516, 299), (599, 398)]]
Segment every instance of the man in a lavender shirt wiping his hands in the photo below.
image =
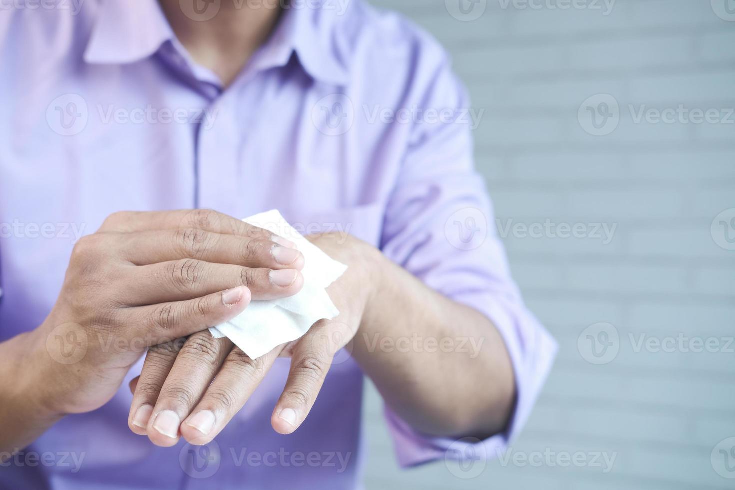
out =
[[(520, 430), (556, 345), (430, 37), (359, 1), (45, 5), (0, 11), (1, 484), (356, 488), (363, 375), (404, 466)], [(235, 219), (268, 209), (349, 268), (250, 359), (207, 328), (301, 289)]]

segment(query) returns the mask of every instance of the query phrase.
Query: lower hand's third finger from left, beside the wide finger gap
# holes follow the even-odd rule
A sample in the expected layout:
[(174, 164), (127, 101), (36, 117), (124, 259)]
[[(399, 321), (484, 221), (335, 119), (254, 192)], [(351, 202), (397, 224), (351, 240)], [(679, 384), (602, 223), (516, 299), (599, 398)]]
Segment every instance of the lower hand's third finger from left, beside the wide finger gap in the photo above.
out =
[(238, 347), (229, 353), (207, 392), (181, 433), (191, 444), (208, 444), (240, 411), (278, 358), (279, 347), (258, 359), (251, 359)]

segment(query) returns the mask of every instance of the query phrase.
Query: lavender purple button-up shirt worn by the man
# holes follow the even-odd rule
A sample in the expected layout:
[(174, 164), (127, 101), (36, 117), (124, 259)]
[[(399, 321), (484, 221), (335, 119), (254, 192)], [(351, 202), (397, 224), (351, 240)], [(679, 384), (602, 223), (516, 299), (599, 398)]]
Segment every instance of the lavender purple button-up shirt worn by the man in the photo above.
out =
[[(64, 4), (0, 10), (0, 340), (43, 323), (73, 242), (112, 212), (277, 208), (303, 233), (344, 231), (376, 245), (487, 314), (506, 341), (518, 392), (509, 430), (470, 447), (423, 436), (387, 409), (400, 463), (492, 457), (508, 444), (556, 343), (512, 281), (473, 169), (470, 103), (429, 35), (360, 1), (297, 2), (223, 90), (156, 1)], [(406, 337), (413, 331), (406, 325)], [(0, 467), (0, 486), (361, 486), (363, 374), (348, 356), (292, 436), (270, 427), (288, 372), (279, 359), (204, 449), (163, 449), (130, 432), (127, 381), (141, 364), (106, 406), (66, 417), (24, 451), (40, 461)]]

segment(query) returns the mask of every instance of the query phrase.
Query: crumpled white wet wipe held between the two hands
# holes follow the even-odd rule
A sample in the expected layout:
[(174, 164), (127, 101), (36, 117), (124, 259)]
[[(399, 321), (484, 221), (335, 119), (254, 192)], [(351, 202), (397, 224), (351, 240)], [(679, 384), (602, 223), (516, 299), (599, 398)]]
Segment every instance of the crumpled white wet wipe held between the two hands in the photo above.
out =
[(304, 255), (304, 288), (290, 298), (253, 301), (227, 323), (210, 328), (217, 339), (228, 337), (244, 353), (257, 359), (275, 347), (304, 336), (319, 320), (340, 314), (326, 288), (337, 281), (347, 266), (321, 251), (302, 237), (276, 210), (245, 218), (243, 221), (289, 239)]

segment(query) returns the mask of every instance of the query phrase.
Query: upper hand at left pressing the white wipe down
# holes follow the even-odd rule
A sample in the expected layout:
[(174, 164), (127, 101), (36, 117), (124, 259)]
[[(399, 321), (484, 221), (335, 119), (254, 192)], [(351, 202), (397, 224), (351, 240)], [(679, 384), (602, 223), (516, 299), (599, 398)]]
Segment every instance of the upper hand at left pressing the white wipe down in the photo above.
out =
[(110, 216), (76, 245), (54, 309), (29, 335), (40, 406), (103, 406), (147, 347), (223, 323), (251, 299), (294, 295), (303, 266), (293, 243), (216, 212)]

